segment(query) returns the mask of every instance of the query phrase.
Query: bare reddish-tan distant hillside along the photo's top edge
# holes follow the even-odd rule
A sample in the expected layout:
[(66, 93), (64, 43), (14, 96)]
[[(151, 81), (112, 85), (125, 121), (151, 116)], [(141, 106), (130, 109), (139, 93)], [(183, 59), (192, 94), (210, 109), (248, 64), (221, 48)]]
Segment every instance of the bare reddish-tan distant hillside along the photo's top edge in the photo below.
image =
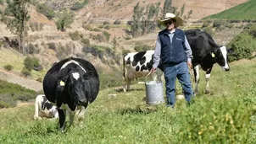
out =
[[(225, 9), (234, 7), (247, 1), (248, 0), (173, 0), (172, 2), (173, 5), (177, 8), (181, 8), (183, 3), (185, 3), (185, 14), (192, 10), (193, 13), (190, 20), (195, 21), (213, 13), (220, 13)], [(148, 3), (161, 2), (161, 6), (163, 7), (164, 5), (164, 1), (159, 0), (90, 1), (90, 3), (86, 5), (86, 8), (83, 8), (79, 11), (76, 19), (83, 18), (84, 21), (92, 20), (94, 22), (103, 22), (104, 20), (110, 20), (114, 22), (115, 19), (121, 19), (125, 23), (127, 20), (132, 18), (132, 10), (138, 2), (144, 7), (146, 7)]]

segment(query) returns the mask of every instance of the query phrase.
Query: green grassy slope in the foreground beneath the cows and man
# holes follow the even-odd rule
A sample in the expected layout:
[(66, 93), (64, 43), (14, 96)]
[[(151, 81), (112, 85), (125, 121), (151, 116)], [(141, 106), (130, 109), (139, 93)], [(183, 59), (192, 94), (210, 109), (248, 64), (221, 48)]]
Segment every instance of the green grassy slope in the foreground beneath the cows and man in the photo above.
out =
[[(230, 72), (216, 65), (212, 93), (203, 94), (201, 77), (195, 103), (179, 99), (175, 109), (147, 106), (143, 85), (129, 93), (105, 89), (88, 106), (84, 126), (64, 134), (56, 120), (32, 120), (33, 105), (0, 109), (0, 143), (255, 143), (255, 62), (233, 62)], [(118, 96), (109, 97), (113, 93)]]

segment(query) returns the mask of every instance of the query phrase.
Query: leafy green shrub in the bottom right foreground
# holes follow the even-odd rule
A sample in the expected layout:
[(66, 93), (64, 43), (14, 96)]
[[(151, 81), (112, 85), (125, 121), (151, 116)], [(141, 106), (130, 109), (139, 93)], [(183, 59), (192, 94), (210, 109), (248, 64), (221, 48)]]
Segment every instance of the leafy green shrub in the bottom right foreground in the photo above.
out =
[[(242, 98), (239, 98), (242, 99)], [(250, 143), (253, 136), (253, 109), (237, 99), (211, 99), (187, 109), (178, 121), (181, 128), (177, 141), (181, 143)], [(209, 109), (203, 109), (208, 107)], [(195, 110), (197, 109), (197, 110)], [(186, 139), (184, 139), (186, 137)]]

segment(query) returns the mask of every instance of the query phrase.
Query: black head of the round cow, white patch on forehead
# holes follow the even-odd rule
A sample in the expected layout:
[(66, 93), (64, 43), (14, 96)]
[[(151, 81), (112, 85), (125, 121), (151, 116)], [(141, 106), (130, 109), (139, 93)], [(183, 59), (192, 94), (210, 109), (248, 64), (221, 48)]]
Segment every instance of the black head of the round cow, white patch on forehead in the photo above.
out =
[(86, 86), (85, 80), (81, 72), (71, 72), (67, 79), (68, 93), (75, 105), (85, 105), (86, 99)]

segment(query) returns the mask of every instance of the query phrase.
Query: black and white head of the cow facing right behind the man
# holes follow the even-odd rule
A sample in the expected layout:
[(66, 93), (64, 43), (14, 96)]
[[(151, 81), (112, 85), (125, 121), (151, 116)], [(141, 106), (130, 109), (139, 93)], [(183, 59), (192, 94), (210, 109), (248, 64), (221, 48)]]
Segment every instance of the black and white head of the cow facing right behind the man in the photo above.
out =
[(228, 64), (228, 57), (227, 57), (227, 51), (225, 46), (220, 46), (217, 50), (215, 50), (212, 54), (212, 57), (214, 57), (215, 61), (222, 67), (224, 71), (229, 71), (230, 66)]

